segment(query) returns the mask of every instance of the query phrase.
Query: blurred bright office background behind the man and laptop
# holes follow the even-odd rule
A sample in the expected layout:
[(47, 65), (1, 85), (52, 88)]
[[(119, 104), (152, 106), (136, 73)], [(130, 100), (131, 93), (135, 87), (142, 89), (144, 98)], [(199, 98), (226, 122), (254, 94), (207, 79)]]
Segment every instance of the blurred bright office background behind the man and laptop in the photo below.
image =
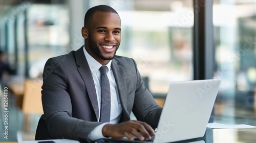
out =
[(255, 0), (1, 0), (0, 50), (12, 72), (8, 87), (9, 141), (32, 138), (42, 113), (46, 60), (83, 45), (86, 11), (109, 5), (122, 20), (117, 55), (134, 58), (145, 85), (162, 106), (170, 82), (221, 79), (212, 122), (256, 126)]

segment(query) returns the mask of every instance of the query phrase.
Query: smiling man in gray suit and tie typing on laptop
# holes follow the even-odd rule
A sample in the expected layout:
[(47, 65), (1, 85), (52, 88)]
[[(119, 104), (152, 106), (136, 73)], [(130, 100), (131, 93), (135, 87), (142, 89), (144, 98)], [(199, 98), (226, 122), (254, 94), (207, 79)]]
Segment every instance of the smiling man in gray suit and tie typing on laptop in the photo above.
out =
[[(89, 9), (81, 34), (80, 49), (45, 65), (36, 139), (151, 139), (162, 108), (144, 87), (135, 61), (115, 55), (121, 42), (118, 13), (105, 5)], [(137, 121), (130, 121), (131, 112)]]

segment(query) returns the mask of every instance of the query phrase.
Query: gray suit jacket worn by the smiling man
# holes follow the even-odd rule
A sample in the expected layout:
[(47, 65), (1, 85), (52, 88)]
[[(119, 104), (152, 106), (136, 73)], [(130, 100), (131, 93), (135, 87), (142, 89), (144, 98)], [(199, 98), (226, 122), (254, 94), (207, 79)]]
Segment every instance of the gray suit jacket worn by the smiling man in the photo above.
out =
[[(87, 141), (89, 133), (102, 124), (97, 122), (96, 90), (82, 48), (50, 58), (44, 68), (42, 120), (53, 138)], [(143, 86), (135, 61), (115, 56), (111, 68), (122, 106), (120, 122), (129, 121), (133, 111), (137, 120), (156, 128), (162, 108)], [(38, 125), (37, 132), (41, 126)]]

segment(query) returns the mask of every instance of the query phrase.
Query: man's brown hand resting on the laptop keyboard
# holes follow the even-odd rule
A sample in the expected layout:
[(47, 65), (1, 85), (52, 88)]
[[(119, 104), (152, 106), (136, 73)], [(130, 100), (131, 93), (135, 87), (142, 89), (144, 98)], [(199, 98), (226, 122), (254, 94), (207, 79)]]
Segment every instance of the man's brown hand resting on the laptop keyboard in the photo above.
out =
[(120, 124), (106, 124), (102, 128), (102, 134), (105, 137), (122, 138), (127, 137), (134, 140), (136, 136), (139, 140), (150, 140), (155, 135), (155, 131), (150, 125), (140, 121), (127, 121)]

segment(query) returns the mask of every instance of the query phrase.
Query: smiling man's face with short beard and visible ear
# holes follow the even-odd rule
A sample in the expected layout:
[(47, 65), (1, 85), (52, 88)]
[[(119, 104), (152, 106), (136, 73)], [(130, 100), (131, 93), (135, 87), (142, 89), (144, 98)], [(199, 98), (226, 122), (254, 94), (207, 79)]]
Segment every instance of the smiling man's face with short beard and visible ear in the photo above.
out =
[(120, 26), (118, 14), (109, 12), (96, 12), (87, 26), (87, 36), (83, 35), (86, 50), (99, 63), (106, 64), (114, 58), (121, 41)]

